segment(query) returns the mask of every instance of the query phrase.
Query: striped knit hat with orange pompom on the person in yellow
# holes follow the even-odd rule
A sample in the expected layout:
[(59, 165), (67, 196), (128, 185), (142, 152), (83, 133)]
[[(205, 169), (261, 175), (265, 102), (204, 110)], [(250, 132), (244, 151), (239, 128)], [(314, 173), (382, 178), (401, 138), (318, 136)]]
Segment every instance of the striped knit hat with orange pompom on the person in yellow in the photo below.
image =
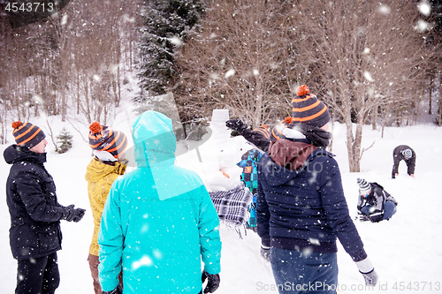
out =
[(107, 151), (117, 158), (125, 152), (127, 138), (124, 132), (114, 131), (110, 126), (93, 122), (89, 125), (89, 146), (97, 151)]

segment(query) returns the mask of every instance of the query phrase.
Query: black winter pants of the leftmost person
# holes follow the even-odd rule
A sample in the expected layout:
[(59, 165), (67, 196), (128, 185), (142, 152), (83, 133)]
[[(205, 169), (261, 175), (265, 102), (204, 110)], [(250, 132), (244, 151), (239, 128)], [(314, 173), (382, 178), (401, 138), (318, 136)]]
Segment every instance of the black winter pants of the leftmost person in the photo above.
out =
[(19, 260), (15, 294), (54, 294), (59, 283), (57, 253)]

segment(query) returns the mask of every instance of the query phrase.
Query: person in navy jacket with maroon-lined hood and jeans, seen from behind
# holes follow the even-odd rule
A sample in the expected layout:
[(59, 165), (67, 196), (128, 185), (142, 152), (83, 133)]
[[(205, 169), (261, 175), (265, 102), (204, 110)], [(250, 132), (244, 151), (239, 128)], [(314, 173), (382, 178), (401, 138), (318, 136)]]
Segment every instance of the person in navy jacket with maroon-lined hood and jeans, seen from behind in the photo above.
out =
[(337, 238), (365, 283), (377, 283), (348, 212), (338, 162), (324, 150), (329, 120), (309, 87), (298, 87), (285, 138), (272, 142), (258, 164), (257, 229), (279, 293), (336, 293)]

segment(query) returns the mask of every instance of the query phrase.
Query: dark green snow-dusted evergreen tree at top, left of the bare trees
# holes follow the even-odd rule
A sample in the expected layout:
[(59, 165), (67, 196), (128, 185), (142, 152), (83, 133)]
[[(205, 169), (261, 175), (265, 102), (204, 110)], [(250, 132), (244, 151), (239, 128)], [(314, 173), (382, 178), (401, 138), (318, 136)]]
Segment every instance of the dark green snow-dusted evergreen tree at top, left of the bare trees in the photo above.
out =
[(166, 94), (176, 72), (174, 50), (202, 17), (202, 0), (153, 0), (141, 10), (141, 94), (135, 102)]

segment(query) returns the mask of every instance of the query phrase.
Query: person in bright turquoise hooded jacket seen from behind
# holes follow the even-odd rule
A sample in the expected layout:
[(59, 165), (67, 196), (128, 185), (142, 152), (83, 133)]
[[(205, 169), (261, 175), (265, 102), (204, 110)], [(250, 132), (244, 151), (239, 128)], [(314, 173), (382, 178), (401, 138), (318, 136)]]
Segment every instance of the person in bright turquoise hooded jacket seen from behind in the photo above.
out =
[(174, 165), (170, 118), (146, 111), (132, 126), (137, 169), (112, 184), (98, 236), (103, 293), (197, 294), (206, 278), (212, 293), (221, 240), (209, 192), (194, 171)]

